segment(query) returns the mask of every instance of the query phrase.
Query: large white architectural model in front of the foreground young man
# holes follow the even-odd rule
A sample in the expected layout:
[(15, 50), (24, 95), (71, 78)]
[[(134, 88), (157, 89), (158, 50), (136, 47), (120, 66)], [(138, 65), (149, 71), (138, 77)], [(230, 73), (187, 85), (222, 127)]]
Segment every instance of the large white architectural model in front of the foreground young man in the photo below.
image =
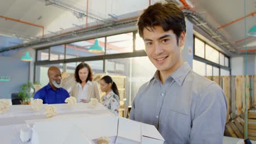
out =
[(108, 137), (110, 143), (164, 143), (164, 139), (153, 125), (109, 114), (61, 115), (51, 119), (27, 121), (27, 123), (32, 128), (32, 144), (70, 142), (94, 144), (102, 136)]

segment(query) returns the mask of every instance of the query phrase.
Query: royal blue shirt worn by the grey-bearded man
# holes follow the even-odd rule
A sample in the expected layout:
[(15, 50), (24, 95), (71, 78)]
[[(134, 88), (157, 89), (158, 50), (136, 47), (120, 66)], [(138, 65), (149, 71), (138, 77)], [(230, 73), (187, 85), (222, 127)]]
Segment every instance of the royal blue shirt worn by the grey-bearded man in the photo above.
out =
[(54, 91), (49, 83), (34, 94), (34, 99), (42, 99), (43, 104), (62, 104), (68, 97), (66, 89), (61, 87)]

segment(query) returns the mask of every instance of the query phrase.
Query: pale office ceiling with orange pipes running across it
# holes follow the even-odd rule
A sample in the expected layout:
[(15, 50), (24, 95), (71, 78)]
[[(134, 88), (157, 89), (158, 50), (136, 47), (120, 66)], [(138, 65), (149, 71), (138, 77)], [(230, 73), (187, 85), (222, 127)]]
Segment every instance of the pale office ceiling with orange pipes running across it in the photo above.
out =
[[(0, 0), (0, 2), (0, 34), (33, 41), (41, 39), (43, 32), (44, 38), (47, 38), (67, 29), (86, 27), (86, 23), (106, 22), (109, 18), (118, 20), (119, 15), (142, 10), (155, 1)], [(181, 1), (175, 2), (179, 7), (183, 6)], [(256, 0), (246, 1), (246, 7), (245, 1), (241, 0), (186, 2), (222, 33), (226, 40), (234, 45), (236, 51), (245, 50), (245, 33), (256, 25)], [(88, 17), (86, 17), (87, 12)], [(255, 46), (256, 37), (247, 36), (247, 49), (254, 51)]]

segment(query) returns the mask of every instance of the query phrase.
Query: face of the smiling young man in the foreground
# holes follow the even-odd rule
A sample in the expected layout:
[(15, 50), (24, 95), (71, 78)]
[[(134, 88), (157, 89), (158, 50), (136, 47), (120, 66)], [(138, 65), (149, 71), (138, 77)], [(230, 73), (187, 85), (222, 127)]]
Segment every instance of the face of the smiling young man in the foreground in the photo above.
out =
[(165, 32), (161, 26), (155, 26), (153, 31), (148, 29), (143, 30), (148, 58), (160, 72), (171, 70), (175, 64), (182, 61), (180, 46), (183, 46), (185, 32), (179, 37), (178, 45), (172, 30)]

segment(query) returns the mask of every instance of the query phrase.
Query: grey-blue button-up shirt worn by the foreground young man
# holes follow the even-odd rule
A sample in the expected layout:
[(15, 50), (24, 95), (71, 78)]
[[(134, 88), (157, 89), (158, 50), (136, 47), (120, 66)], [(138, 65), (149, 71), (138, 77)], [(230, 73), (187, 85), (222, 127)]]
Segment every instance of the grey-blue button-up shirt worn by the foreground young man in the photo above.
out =
[(139, 88), (130, 118), (155, 125), (165, 144), (221, 144), (226, 110), (222, 89), (184, 63), (164, 84), (156, 71)]

